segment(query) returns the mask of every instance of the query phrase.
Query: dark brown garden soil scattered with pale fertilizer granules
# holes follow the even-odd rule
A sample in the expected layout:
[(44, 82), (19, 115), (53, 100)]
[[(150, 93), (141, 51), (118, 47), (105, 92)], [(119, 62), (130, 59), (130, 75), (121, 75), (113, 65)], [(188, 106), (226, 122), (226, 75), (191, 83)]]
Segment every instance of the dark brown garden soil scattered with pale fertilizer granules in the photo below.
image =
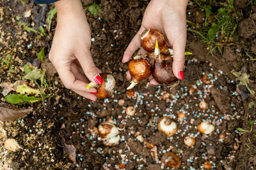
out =
[[(193, 55), (186, 57), (184, 81), (171, 92), (168, 87), (152, 87), (146, 81), (141, 82), (134, 88), (134, 96), (128, 97), (125, 90), (129, 85), (125, 79), (128, 64), (122, 64), (121, 60), (125, 48), (140, 28), (148, 1), (85, 1), (84, 6), (97, 3), (102, 8), (97, 17), (84, 9), (95, 39), (91, 50), (93, 60), (103, 72), (112, 73), (117, 84), (113, 97), (92, 103), (65, 89), (49, 61), (41, 63), (37, 60), (43, 47), (45, 53), (49, 53), (56, 18), (52, 20), (51, 32), (46, 31), (47, 36), (41, 39), (36, 39), (34, 32), (25, 33), (17, 24), (15, 17), (20, 17), (21, 22), (29, 27), (34, 25), (38, 30), (39, 25), (47, 24), (45, 16), (53, 5), (40, 7), (33, 1), (25, 3), (0, 2), (0, 56), (4, 59), (11, 54), (14, 67), (13, 73), (1, 67), (0, 81), (22, 80), (25, 74), (22, 68), (29, 62), (47, 70), (47, 82), (53, 94), (44, 103), (18, 105), (17, 108), (33, 107), (34, 112), (27, 117), (13, 122), (0, 121), (0, 129), (4, 129), (2, 132), (6, 133), (6, 138), (16, 139), (23, 148), (8, 152), (1, 144), (0, 169), (121, 169), (124, 165), (125, 169), (165, 169), (152, 157), (145, 143), (136, 139), (138, 134), (144, 141), (157, 146), (160, 160), (166, 152), (176, 153), (182, 161), (180, 169), (204, 169), (207, 160), (211, 161), (212, 169), (255, 169), (255, 129), (253, 127), (252, 132), (244, 133), (236, 130), (237, 127), (250, 129), (249, 120), (255, 125), (256, 106), (248, 107), (248, 103), (255, 103), (255, 97), (245, 86), (237, 86), (239, 81), (231, 73), (234, 69), (249, 74), (252, 80), (250, 89), (256, 92), (255, 60), (246, 55), (248, 53), (255, 59), (255, 5), (239, 6), (236, 2), (237, 10), (242, 10), (244, 15), (239, 18), (236, 40), (233, 45), (223, 48), (223, 55), (218, 52), (211, 55), (201, 39), (188, 32), (186, 51)], [(28, 10), (31, 10), (31, 16), (24, 18), (23, 13)], [(202, 9), (189, 3), (188, 10), (192, 13), (188, 15), (189, 20), (204, 22)], [(248, 15), (248, 11), (252, 15)], [(202, 82), (204, 74), (209, 75), (211, 85)], [(33, 82), (28, 83), (33, 85)], [(191, 87), (196, 91), (189, 92)], [(171, 94), (171, 99), (164, 101), (161, 96), (166, 92)], [(4, 103), (4, 96), (0, 94), (0, 97)], [(125, 100), (123, 107), (118, 106), (118, 99)], [(207, 110), (198, 106), (203, 100), (208, 104)], [(136, 107), (134, 117), (125, 114), (127, 106)], [(147, 111), (152, 112), (152, 125)], [(177, 117), (180, 111), (185, 118)], [(99, 134), (93, 133), (93, 127), (98, 127), (107, 116), (113, 118), (117, 127), (124, 127), (116, 146), (104, 146)], [(175, 120), (179, 127), (177, 134), (167, 138), (157, 130), (157, 120), (162, 116)], [(212, 134), (197, 131), (196, 126), (202, 120), (210, 120), (215, 125)], [(225, 140), (219, 139), (221, 133), (227, 135)], [(186, 136), (196, 139), (195, 146), (188, 148), (184, 145)], [(76, 148), (77, 165), (63, 153), (61, 137)], [(4, 139), (1, 132), (0, 139)]]

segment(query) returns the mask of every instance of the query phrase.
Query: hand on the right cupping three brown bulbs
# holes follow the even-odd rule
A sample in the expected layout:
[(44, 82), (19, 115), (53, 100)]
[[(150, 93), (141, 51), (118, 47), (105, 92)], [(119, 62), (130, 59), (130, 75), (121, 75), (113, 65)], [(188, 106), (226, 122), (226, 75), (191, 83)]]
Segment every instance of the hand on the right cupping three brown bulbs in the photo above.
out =
[[(158, 29), (163, 32), (167, 42), (173, 48), (173, 74), (179, 78), (185, 62), (186, 47), (186, 8), (188, 0), (152, 0), (148, 4), (140, 30), (132, 39), (124, 52), (122, 62), (128, 62), (132, 54), (141, 46), (140, 34), (145, 29)], [(141, 48), (142, 49), (142, 48)], [(145, 50), (141, 50), (145, 52)], [(183, 76), (183, 71), (182, 71)], [(131, 79), (131, 74), (127, 72), (127, 79)], [(156, 80), (150, 80), (150, 84), (157, 85)]]

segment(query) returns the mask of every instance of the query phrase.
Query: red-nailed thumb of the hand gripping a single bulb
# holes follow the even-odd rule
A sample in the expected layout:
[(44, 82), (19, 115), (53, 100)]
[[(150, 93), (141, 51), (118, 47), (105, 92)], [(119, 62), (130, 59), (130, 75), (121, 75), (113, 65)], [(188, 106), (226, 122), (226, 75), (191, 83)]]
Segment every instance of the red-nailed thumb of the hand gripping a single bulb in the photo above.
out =
[(97, 67), (95, 66), (90, 50), (83, 51), (81, 50), (77, 53), (77, 60), (81, 64), (82, 69), (86, 77), (92, 81), (100, 85), (102, 83), (102, 79), (97, 71)]

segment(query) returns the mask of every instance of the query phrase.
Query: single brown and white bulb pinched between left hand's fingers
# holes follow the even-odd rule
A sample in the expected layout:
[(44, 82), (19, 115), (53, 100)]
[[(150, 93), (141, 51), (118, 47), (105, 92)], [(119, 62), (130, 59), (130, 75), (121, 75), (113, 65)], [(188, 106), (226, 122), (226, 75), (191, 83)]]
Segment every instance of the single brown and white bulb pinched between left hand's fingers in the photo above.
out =
[(97, 94), (95, 95), (100, 99), (111, 97), (116, 85), (115, 78), (109, 73), (100, 73), (100, 77), (103, 83), (97, 87)]

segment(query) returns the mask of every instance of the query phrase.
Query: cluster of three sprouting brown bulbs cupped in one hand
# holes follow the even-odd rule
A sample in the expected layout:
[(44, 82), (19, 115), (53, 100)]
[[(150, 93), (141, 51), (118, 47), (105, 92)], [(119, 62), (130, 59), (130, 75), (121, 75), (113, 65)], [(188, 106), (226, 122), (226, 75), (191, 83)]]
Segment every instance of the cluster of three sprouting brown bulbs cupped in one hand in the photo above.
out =
[(146, 80), (152, 74), (153, 78), (160, 84), (170, 84), (178, 79), (172, 71), (173, 50), (166, 45), (164, 35), (157, 29), (145, 29), (141, 33), (142, 47), (148, 52), (147, 55), (136, 55), (129, 62), (132, 89), (140, 81)]

